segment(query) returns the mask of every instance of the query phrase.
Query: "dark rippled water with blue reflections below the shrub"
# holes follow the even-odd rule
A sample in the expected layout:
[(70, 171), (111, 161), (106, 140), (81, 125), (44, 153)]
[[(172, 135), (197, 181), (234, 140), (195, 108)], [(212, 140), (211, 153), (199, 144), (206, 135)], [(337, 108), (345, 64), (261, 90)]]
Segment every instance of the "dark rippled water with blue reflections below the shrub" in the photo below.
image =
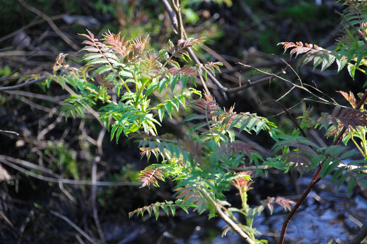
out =
[[(305, 189), (309, 181), (310, 178), (303, 177), (300, 180), (301, 189)], [(361, 225), (366, 224), (366, 198), (358, 194), (353, 194), (351, 198), (348, 198), (345, 185), (342, 185), (339, 191), (336, 192), (335, 189), (330, 187), (330, 182), (331, 179), (329, 178), (321, 180), (309, 194), (288, 226), (285, 244), (326, 244), (329, 241), (333, 241), (332, 243), (348, 243), (356, 235)], [(269, 244), (277, 243), (278, 235), (287, 213), (283, 207), (275, 205), (273, 215), (263, 212), (260, 216), (257, 216), (254, 221), (254, 227), (263, 234), (262, 236), (257, 236), (257, 238), (267, 239)], [(237, 217), (241, 219), (239, 215)], [(158, 222), (155, 222), (155, 219), (149, 219), (146, 225), (138, 225), (139, 227), (136, 226), (137, 228), (135, 228), (136, 234), (133, 238), (130, 240), (124, 238), (125, 241), (120, 239), (120, 242), (117, 243), (243, 243), (237, 234), (231, 234), (230, 232), (222, 238), (222, 228), (226, 223), (220, 218), (208, 221), (205, 214), (198, 216), (196, 213), (191, 213), (174, 218), (160, 217)]]

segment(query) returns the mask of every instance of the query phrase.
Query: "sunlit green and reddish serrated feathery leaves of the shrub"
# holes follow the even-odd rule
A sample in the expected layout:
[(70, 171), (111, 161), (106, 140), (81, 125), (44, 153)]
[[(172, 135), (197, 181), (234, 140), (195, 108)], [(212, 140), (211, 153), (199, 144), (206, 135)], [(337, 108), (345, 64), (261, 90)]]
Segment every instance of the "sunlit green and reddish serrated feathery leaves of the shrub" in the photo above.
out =
[[(366, 36), (366, 26), (367, 22), (361, 23), (359, 36)], [(110, 140), (115, 137), (118, 142), (122, 133), (142, 139), (139, 140), (141, 159), (146, 157), (149, 161), (153, 154), (157, 163), (140, 172), (141, 187), (159, 187), (159, 181), (166, 179), (176, 183), (175, 202), (156, 202), (132, 211), (129, 217), (148, 212), (149, 215), (154, 213), (157, 219), (160, 213), (169, 215), (171, 212), (175, 215), (177, 208), (188, 213), (188, 208), (192, 207), (200, 214), (208, 210), (211, 218), (217, 215), (219, 207), (232, 219), (236, 219), (234, 212), (243, 214), (246, 225), (238, 224), (240, 229), (255, 243), (266, 243), (266, 240), (255, 238), (255, 234), (259, 233), (252, 227), (255, 215), (265, 207), (272, 213), (274, 203), (285, 210), (290, 210), (295, 203), (281, 197), (268, 197), (260, 206), (251, 208), (247, 204), (247, 191), (252, 189), (250, 185), (253, 183), (251, 172), (233, 173), (230, 168), (268, 165), (284, 172), (297, 168), (302, 173), (321, 167), (321, 178), (334, 172), (332, 183), (336, 182), (338, 188), (348, 178), (348, 194), (351, 194), (357, 181), (367, 187), (367, 181), (361, 179), (366, 176), (367, 170), (367, 114), (363, 106), (356, 109), (357, 101), (351, 92), (339, 91), (352, 108), (336, 107), (331, 114), (323, 113), (314, 123), (310, 119), (311, 109), (306, 110), (304, 106), (300, 129), (294, 130), (292, 135), (285, 135), (265, 117), (255, 113), (236, 113), (234, 106), (226, 111), (217, 105), (210, 94), (205, 93), (202, 98), (200, 91), (187, 87), (188, 84), (195, 86), (195, 80), (201, 75), (207, 78), (208, 72), (213, 75), (215, 70), (220, 72), (220, 62), (194, 67), (182, 65), (191, 60), (185, 48), (195, 48), (204, 41), (203, 38), (178, 40), (176, 45), (169, 40), (167, 49), (160, 50), (156, 55), (153, 49), (149, 49), (149, 36), (125, 41), (120, 33), (108, 31), (102, 40), (98, 40), (90, 31), (87, 32), (81, 34), (87, 38), (83, 41), (86, 47), (82, 49), (88, 52), (82, 59), (86, 65), (77, 69), (63, 64), (66, 56), (63, 54), (58, 56), (54, 65), (54, 77), (60, 85), (70, 85), (77, 93), (63, 101), (61, 111), (66, 118), (70, 115), (75, 118), (77, 115), (83, 117), (85, 110), (95, 109), (106, 128), (110, 129)], [(359, 49), (346, 49), (343, 46), (345, 41), (340, 40), (336, 51), (302, 42), (280, 42), (278, 45), (284, 45), (284, 52), (290, 49), (291, 56), (305, 54), (302, 65), (313, 61), (313, 70), (320, 64), (321, 71), (333, 63), (337, 63), (338, 72), (347, 66), (354, 79), (355, 70), (364, 72), (360, 66), (367, 66), (362, 50), (366, 41), (355, 40)], [(156, 95), (162, 91), (167, 93)], [(172, 119), (174, 113), (186, 109), (186, 100), (194, 94), (200, 98), (189, 103), (193, 112), (182, 121), (189, 127), (188, 134), (183, 139), (170, 134), (158, 135), (157, 125), (161, 125), (166, 115)], [(103, 106), (99, 107), (100, 104)], [(325, 128), (326, 136), (337, 136), (346, 127), (348, 130), (343, 135), (343, 142), (353, 141), (364, 159), (350, 160), (359, 152), (342, 146), (321, 148), (300, 136), (299, 130), (314, 125), (315, 128)], [(236, 140), (237, 133), (257, 135), (261, 131), (268, 131), (275, 140), (272, 148), (275, 156), (271, 158), (262, 158), (257, 144)], [(355, 139), (360, 140), (360, 146)], [(239, 191), (240, 209), (226, 202), (224, 192), (232, 185)], [(229, 230), (232, 229), (228, 226), (223, 234)]]

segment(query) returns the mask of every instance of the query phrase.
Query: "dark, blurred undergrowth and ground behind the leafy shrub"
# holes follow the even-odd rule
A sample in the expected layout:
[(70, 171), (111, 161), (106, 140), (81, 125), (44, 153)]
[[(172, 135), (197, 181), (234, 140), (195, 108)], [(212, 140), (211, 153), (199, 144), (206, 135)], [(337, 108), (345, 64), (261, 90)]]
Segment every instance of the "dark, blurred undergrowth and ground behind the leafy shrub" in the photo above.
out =
[[(28, 75), (52, 73), (52, 65), (60, 52), (69, 53), (70, 65), (81, 65), (78, 63), (81, 59), (78, 50), (66, 44), (42, 16), (32, 12), (31, 7), (50, 17), (80, 49), (83, 38), (77, 33), (86, 33), (85, 29), (98, 38), (108, 30), (121, 32), (126, 36), (125, 40), (149, 34), (150, 45), (157, 50), (165, 48), (169, 39), (177, 41), (168, 14), (158, 0), (32, 0), (25, 1), (26, 5), (22, 2), (1, 3), (1, 87), (20, 84)], [(217, 77), (225, 87), (230, 88), (264, 77), (259, 72), (242, 67), (239, 62), (255, 65), (264, 71), (279, 72), (286, 68), (286, 64), (269, 55), (273, 53), (297, 68), (298, 59), (290, 60), (287, 54), (283, 55), (283, 49), (276, 45), (278, 42), (302, 41), (332, 49), (335, 39), (341, 35), (338, 32), (340, 17), (334, 11), (341, 12), (343, 6), (332, 0), (324, 0), (321, 4), (317, 2), (182, 0), (181, 12), (188, 37), (206, 37), (204, 45), (197, 50), (198, 57), (202, 63), (222, 61), (224, 67)], [(343, 101), (343, 98), (335, 93), (335, 89), (357, 93), (362, 91), (365, 82), (362, 76), (357, 76), (353, 81), (347, 71), (335, 75), (336, 67), (323, 73), (317, 69), (311, 71), (312, 66), (299, 70), (301, 79), (330, 92), (329, 95), (337, 97), (338, 101)], [(288, 79), (297, 79), (289, 69), (287, 72)], [(293, 128), (291, 122), (283, 115), (277, 115), (282, 110), (261, 104), (261, 101), (277, 99), (291, 87), (276, 79), (272, 80), (270, 89), (269, 86), (270, 83), (265, 82), (229, 94), (228, 100), (225, 100), (215, 85), (208, 83), (221, 106), (229, 108), (235, 103), (236, 111), (256, 112), (270, 117), (281, 129), (290, 132)], [(134, 140), (121, 138), (118, 145), (110, 142), (109, 136), (104, 136), (108, 132), (103, 131), (90, 114), (85, 118), (65, 120), (59, 116), (59, 108), (66, 97), (68, 94), (55, 83), (51, 83), (46, 93), (37, 85), (0, 91), (0, 129), (20, 134), (0, 134), (0, 154), (12, 157), (7, 159), (12, 164), (26, 168), (23, 161), (16, 160), (22, 159), (41, 166), (41, 169), (51, 170), (56, 177), (74, 180), (91, 180), (93, 161), (102, 155), (97, 164), (98, 181), (136, 181), (139, 170), (147, 164), (140, 161)], [(299, 99), (305, 97), (306, 94), (294, 90), (281, 102), (287, 108), (294, 106), (291, 113), (298, 117), (302, 115)], [(332, 109), (312, 102), (308, 105), (316, 105), (316, 114)], [(167, 123), (163, 132), (180, 134), (180, 131), (175, 131), (176, 128), (174, 123)], [(255, 140), (265, 148), (268, 146), (261, 137), (244, 139)], [(96, 207), (108, 243), (143, 243), (144, 238), (144, 243), (158, 243), (162, 233), (173, 228), (170, 226), (179, 228), (179, 221), (173, 218), (162, 218), (158, 224), (146, 217), (127, 219), (127, 213), (139, 206), (172, 198), (170, 182), (153, 191), (138, 189), (138, 185), (98, 187), (97, 195), (92, 199), (89, 185), (47, 183), (10, 166), (3, 167), (10, 174), (10, 179), (8, 182), (3, 180), (0, 187), (0, 211), (8, 216), (9, 222), (0, 219), (1, 243), (16, 243), (14, 240), (18, 243), (79, 243), (79, 234), (67, 222), (50, 214), (49, 210), (64, 214), (90, 236), (99, 239), (100, 231), (93, 217), (93, 208)], [(37, 168), (27, 170), (40, 173)], [(295, 194), (295, 189), (289, 185), (275, 182), (274, 188), (270, 188), (269, 181), (259, 180), (261, 182), (262, 186), (268, 184), (269, 192)], [(267, 192), (254, 193), (254, 202), (259, 194), (264, 194), (265, 198), (269, 195)], [(206, 219), (205, 216), (203, 218)], [(188, 225), (195, 227), (204, 221), (203, 218), (189, 219), (194, 224)], [(145, 234), (139, 234), (142, 233), (139, 229), (146, 230)], [(186, 230), (193, 233), (188, 227), (182, 232)], [(206, 233), (201, 234), (202, 243), (211, 243), (220, 232), (219, 228), (208, 228)]]

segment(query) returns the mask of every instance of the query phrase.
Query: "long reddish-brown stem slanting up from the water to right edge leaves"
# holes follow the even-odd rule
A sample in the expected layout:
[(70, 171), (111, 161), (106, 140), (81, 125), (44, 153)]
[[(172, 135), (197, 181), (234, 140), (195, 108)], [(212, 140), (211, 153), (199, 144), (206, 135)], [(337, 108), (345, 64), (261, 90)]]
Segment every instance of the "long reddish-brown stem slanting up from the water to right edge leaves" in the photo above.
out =
[[(361, 98), (361, 100), (359, 101), (356, 109), (360, 109), (361, 106), (364, 104), (364, 101), (366, 101), (367, 98), (367, 90), (366, 92), (363, 94), (363, 97)], [(339, 141), (341, 140), (341, 138), (343, 137), (344, 133), (346, 131), (346, 127), (344, 127), (338, 134), (337, 138), (334, 140), (333, 142), (333, 146), (336, 146)], [(329, 157), (330, 155), (328, 155)], [(328, 159), (328, 157), (326, 157), (326, 159)], [(288, 224), (291, 221), (293, 215), (296, 213), (296, 211), (298, 210), (298, 208), (302, 205), (302, 203), (305, 201), (306, 197), (308, 196), (308, 194), (311, 192), (311, 190), (313, 189), (313, 187), (315, 187), (316, 183), (319, 182), (321, 180), (321, 177), (319, 177), (320, 173), (321, 173), (321, 168), (322, 165), (324, 164), (324, 162), (326, 161), (326, 159), (324, 159), (323, 162), (321, 162), (319, 164), (319, 167), (317, 168), (315, 174), (313, 174), (312, 180), (310, 181), (310, 184), (308, 185), (308, 187), (306, 188), (304, 194), (302, 194), (302, 196), (298, 199), (297, 203), (294, 204), (292, 210), (290, 211), (290, 213), (287, 215), (286, 219), (284, 219), (284, 223), (283, 223), (283, 227), (281, 229), (280, 232), (280, 237), (279, 237), (279, 242), (278, 244), (283, 244), (284, 242), (284, 238), (286, 237), (286, 231), (288, 228)]]

